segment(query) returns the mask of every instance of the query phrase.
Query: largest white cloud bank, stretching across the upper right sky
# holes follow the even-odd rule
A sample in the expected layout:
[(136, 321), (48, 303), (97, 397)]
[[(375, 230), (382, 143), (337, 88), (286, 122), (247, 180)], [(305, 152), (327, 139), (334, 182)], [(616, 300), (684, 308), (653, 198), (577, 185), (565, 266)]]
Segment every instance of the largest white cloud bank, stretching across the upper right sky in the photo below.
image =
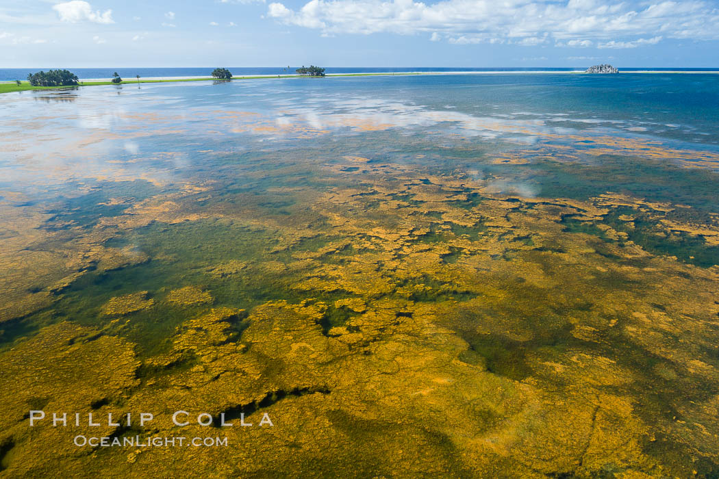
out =
[[(650, 0), (651, 1), (651, 0)], [(267, 15), (324, 34), (426, 32), (458, 45), (511, 42), (606, 48), (636, 38), (719, 39), (719, 9), (709, 0), (310, 0), (299, 9), (273, 2)], [(436, 35), (434, 35), (436, 33)], [(655, 37), (656, 38), (656, 37)], [(614, 42), (614, 43), (612, 43)]]

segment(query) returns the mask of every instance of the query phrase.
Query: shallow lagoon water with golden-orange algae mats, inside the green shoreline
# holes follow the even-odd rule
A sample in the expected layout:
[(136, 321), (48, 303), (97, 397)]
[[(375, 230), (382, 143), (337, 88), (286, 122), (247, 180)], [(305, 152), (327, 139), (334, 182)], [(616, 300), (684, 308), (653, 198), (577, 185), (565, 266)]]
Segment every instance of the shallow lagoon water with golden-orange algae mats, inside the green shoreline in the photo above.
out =
[(188, 403), (279, 418), (203, 452), (220, 476), (719, 470), (715, 75), (126, 84), (0, 108), (11, 473), (177, 473), (185, 452), (92, 460), (51, 428), (37, 457), (22, 414)]

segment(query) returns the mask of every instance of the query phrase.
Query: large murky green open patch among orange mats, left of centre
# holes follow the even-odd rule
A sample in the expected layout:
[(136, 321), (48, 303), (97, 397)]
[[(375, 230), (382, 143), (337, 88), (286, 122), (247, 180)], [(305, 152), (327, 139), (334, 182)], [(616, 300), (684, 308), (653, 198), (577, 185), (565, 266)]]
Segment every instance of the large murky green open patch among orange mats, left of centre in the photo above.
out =
[[(92, 327), (110, 327), (109, 334), (119, 334), (137, 343), (141, 355), (166, 352), (172, 347), (169, 338), (175, 328), (208, 307), (207, 304), (180, 307), (168, 303), (165, 297), (171, 290), (193, 284), (214, 297), (214, 307), (245, 310), (278, 299), (300, 302), (304, 297), (293, 288), (290, 274), (274, 271), (277, 260), (283, 256), (290, 259), (293, 251), (315, 251), (328, 241), (321, 236), (306, 238), (290, 251), (270, 254), (270, 248), (276, 243), (273, 234), (232, 222), (198, 220), (148, 225), (110, 241), (108, 246), (132, 245), (155, 259), (113, 271), (88, 272), (63, 292), (53, 315), (55, 321), (66, 319)], [(247, 266), (229, 276), (211, 274), (214, 267), (229, 259), (246, 261)], [(155, 304), (121, 317), (122, 328), (113, 332), (116, 328), (111, 322), (116, 316), (103, 315), (102, 305), (113, 297), (139, 291), (150, 292), (149, 297)], [(322, 298), (330, 296), (321, 295)]]

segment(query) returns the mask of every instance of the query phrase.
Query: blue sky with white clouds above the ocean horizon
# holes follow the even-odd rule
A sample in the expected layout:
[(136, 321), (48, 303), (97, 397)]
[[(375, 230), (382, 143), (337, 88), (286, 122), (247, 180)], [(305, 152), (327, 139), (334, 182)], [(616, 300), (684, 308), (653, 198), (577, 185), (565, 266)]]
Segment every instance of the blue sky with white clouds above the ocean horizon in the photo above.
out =
[(719, 68), (719, 0), (0, 0), (0, 68)]

